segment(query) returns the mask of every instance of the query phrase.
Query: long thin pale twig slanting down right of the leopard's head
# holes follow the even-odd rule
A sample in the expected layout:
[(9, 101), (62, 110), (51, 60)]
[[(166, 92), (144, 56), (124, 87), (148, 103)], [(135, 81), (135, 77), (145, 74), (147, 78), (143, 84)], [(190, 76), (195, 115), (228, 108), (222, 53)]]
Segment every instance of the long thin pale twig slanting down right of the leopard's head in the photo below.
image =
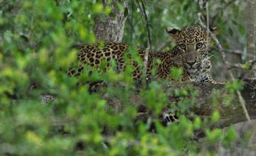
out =
[[(223, 60), (225, 67), (228, 68), (228, 62), (227, 62), (226, 59), (225, 59), (225, 53), (223, 52), (223, 48), (222, 48), (222, 46), (220, 45), (218, 39), (215, 37), (215, 35), (213, 35), (213, 33), (210, 32), (210, 30), (209, 30), (209, 29), (203, 24), (203, 22), (201, 21), (201, 18), (200, 18), (200, 17), (201, 17), (201, 13), (198, 13), (198, 16), (199, 16), (199, 18), (198, 18), (198, 24), (199, 24), (203, 29), (205, 29), (205, 30), (208, 31), (208, 33), (210, 34), (210, 38), (213, 39), (215, 45), (217, 46), (218, 50), (220, 51), (221, 60)], [(228, 73), (229, 73), (230, 78), (231, 78), (231, 80), (232, 80), (232, 82), (233, 82), (233, 81), (235, 80), (235, 77), (233, 76), (233, 73), (231, 72), (230, 68), (228, 68)], [(245, 107), (245, 100), (242, 98), (242, 95), (241, 95), (240, 91), (236, 91), (236, 94), (238, 94), (238, 99), (239, 99), (240, 104), (241, 104), (241, 106), (242, 106), (242, 110), (243, 110), (244, 113), (245, 113), (245, 117), (247, 118), (247, 121), (249, 121), (249, 123), (250, 123), (250, 116), (249, 116), (248, 111), (247, 111), (247, 109), (246, 109), (246, 107)]]

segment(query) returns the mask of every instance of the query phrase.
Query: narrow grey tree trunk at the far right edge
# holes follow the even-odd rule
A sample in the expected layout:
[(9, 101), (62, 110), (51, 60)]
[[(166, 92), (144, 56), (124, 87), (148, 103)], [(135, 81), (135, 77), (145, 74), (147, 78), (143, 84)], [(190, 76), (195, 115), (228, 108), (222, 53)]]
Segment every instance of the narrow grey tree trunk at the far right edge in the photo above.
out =
[[(256, 0), (247, 1), (247, 60), (256, 59)], [(256, 77), (256, 65), (252, 66), (251, 72), (247, 75), (248, 78)]]

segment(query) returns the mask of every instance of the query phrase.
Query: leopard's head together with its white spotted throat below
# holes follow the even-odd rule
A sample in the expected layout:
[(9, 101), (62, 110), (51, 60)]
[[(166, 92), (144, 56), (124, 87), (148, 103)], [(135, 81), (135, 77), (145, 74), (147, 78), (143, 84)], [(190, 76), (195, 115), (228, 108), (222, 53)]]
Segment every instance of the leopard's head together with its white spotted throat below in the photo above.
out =
[[(214, 35), (220, 28), (212, 28)], [(210, 77), (209, 48), (211, 38), (201, 27), (187, 27), (177, 30), (167, 27), (167, 33), (174, 38), (176, 50), (180, 52), (183, 68), (190, 74), (193, 82), (201, 82), (204, 77)]]

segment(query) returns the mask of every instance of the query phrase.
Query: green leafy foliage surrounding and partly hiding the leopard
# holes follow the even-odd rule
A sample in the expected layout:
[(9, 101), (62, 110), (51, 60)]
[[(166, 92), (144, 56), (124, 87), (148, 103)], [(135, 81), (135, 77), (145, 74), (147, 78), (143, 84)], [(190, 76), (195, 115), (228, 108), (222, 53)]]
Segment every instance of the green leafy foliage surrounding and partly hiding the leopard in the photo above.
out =
[[(75, 0), (0, 2), (1, 155), (180, 155), (184, 145), (193, 154), (201, 152), (196, 141), (191, 140), (191, 135), (193, 130), (206, 126), (208, 120), (196, 118), (189, 121), (183, 116), (189, 104), (194, 104), (187, 98), (196, 94), (190, 87), (166, 94), (164, 82), (151, 82), (147, 89), (139, 91), (144, 97), (142, 103), (155, 115), (159, 115), (162, 106), (168, 104), (169, 94), (176, 94), (181, 99), (178, 104), (171, 104), (173, 108), (181, 108), (178, 111), (181, 124), (164, 128), (154, 120), (157, 133), (152, 133), (149, 129), (153, 118), (149, 118), (147, 123), (134, 122), (137, 108), (129, 101), (129, 96), (136, 94), (129, 76), (131, 67), (122, 74), (115, 73), (114, 69), (100, 74), (95, 69), (91, 75), (85, 71), (79, 78), (66, 75), (70, 65), (78, 65), (75, 60), (78, 50), (72, 45), (95, 43), (93, 19), (102, 13), (113, 16), (110, 7), (104, 7), (100, 2)], [(209, 9), (220, 11), (225, 3), (210, 1)], [(222, 27), (220, 35), (227, 36), (227, 32), (230, 37), (245, 34), (245, 28), (237, 20), (241, 18), (240, 3), (228, 8), (233, 11), (232, 15), (228, 11), (220, 11), (220, 16), (214, 21), (214, 25)], [(124, 41), (147, 47), (145, 21), (138, 5), (130, 1), (129, 9), (124, 10), (122, 4), (114, 4), (129, 18)], [(146, 10), (153, 27), (154, 50), (159, 50), (166, 43), (165, 26), (181, 28), (191, 25), (198, 18), (196, 11), (201, 11), (195, 1), (178, 0), (150, 1)], [(226, 22), (228, 17), (231, 20)], [(233, 24), (238, 31), (233, 30)], [(223, 42), (228, 47), (228, 38), (220, 40), (226, 40)], [(174, 43), (170, 45), (174, 46)], [(131, 48), (129, 51), (142, 65), (134, 54), (136, 50)], [(172, 72), (178, 79), (182, 70), (172, 69)], [(109, 87), (100, 94), (89, 94), (88, 84), (77, 86), (80, 82), (102, 79)], [(122, 86), (122, 83), (126, 85)], [(37, 89), (31, 89), (32, 84), (37, 84)], [(227, 89), (236, 91), (241, 89), (241, 84), (234, 82), (227, 85)], [(118, 108), (107, 104), (107, 99), (102, 99), (106, 93), (120, 99), (118, 108), (123, 111), (118, 112)], [(43, 105), (39, 94), (55, 95), (56, 100), (50, 99)], [(218, 112), (214, 112), (209, 121), (214, 123), (219, 117)], [(117, 131), (119, 127), (122, 130)], [(102, 134), (106, 128), (111, 135)], [(206, 134), (209, 143), (223, 141), (227, 147), (236, 136), (233, 128), (225, 134), (220, 129), (208, 129)], [(209, 152), (213, 151), (209, 149)]]

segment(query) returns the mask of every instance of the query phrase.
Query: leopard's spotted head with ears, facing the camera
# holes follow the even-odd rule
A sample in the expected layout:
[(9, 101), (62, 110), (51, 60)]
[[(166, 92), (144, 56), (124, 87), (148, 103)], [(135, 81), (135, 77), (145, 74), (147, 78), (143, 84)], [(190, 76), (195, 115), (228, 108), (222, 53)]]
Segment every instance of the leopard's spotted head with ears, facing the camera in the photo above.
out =
[[(219, 30), (218, 27), (210, 29), (214, 35), (217, 35)], [(193, 26), (178, 30), (166, 27), (166, 32), (174, 38), (176, 48), (182, 54), (183, 66), (187, 69), (196, 69), (203, 60), (209, 60), (211, 38), (203, 28)]]

